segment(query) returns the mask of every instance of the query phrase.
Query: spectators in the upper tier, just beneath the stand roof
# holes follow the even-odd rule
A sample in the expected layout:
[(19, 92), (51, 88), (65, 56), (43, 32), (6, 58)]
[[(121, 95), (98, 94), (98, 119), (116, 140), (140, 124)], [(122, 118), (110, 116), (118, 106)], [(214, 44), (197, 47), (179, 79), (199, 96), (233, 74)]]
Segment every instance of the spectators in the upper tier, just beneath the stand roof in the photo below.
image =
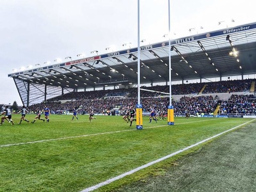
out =
[[(211, 93), (233, 93), (249, 91), (251, 82), (255, 79), (246, 80), (230, 80), (219, 82), (207, 82), (207, 83), (195, 83), (195, 84), (180, 84), (172, 85), (172, 95), (197, 95), (206, 85), (203, 90), (203, 94)], [(140, 90), (141, 97), (157, 97), (159, 95), (165, 95), (163, 93), (170, 93), (170, 86), (142, 86), (142, 89), (152, 90), (145, 91)], [(162, 92), (162, 93), (161, 93)], [(94, 90), (94, 91), (82, 91), (71, 92), (62, 96), (48, 99), (48, 101), (61, 101), (61, 100), (84, 100), (84, 99), (100, 99), (104, 97), (131, 97), (136, 98), (138, 95), (138, 88), (129, 89), (108, 89), (108, 90)]]

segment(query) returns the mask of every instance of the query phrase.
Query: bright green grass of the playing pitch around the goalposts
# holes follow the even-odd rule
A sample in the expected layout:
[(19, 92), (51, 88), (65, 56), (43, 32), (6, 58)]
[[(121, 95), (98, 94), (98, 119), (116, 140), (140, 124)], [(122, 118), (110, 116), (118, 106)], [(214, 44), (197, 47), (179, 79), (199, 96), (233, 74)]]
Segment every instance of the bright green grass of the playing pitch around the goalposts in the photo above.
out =
[[(32, 121), (34, 115), (26, 118)], [(50, 123), (17, 124), (20, 115), (14, 114), (14, 126), (5, 122), (0, 127), (0, 146), (45, 140), (0, 147), (0, 191), (81, 191), (251, 120), (175, 118), (175, 125), (167, 126), (166, 121), (149, 123), (148, 117), (143, 117), (143, 129), (136, 130), (135, 122), (130, 127), (121, 116), (96, 115), (91, 123), (88, 115), (71, 118), (50, 115)], [(66, 137), (76, 138), (49, 140)], [(193, 150), (196, 148), (189, 152)], [(189, 152), (98, 191), (161, 174), (163, 167)]]

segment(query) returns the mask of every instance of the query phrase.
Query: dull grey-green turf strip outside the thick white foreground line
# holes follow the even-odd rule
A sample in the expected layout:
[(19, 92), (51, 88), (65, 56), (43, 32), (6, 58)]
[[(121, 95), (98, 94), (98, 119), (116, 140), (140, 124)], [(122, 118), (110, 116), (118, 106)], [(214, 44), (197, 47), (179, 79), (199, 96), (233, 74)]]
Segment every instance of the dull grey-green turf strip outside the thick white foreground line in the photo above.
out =
[(112, 192), (249, 192), (256, 189), (256, 121)]

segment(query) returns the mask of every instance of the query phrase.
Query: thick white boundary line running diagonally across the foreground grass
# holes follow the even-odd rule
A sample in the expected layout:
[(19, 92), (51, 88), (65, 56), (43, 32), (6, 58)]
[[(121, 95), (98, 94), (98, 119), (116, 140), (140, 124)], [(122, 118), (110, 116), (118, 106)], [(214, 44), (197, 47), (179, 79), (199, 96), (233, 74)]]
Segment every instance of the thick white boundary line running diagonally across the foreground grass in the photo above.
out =
[[(253, 120), (251, 120), (251, 121), (254, 121), (254, 120), (255, 120), (255, 119), (253, 119)], [(202, 143), (204, 143), (204, 142), (206, 142), (206, 141), (209, 141), (209, 140), (211, 140), (211, 139), (213, 139), (213, 138), (215, 138), (215, 137), (218, 137), (218, 136), (220, 136), (220, 135), (222, 135), (222, 134), (224, 134), (224, 133), (226, 133), (226, 132), (229, 132), (229, 131), (234, 130), (234, 129), (238, 128), (238, 127), (244, 126), (245, 124), (250, 123), (251, 121), (248, 121), (248, 122), (246, 122), (246, 123), (240, 124), (239, 126), (233, 127), (233, 128), (231, 128), (231, 129), (229, 129), (229, 130), (227, 130), (227, 131), (223, 131), (223, 132), (221, 132), (221, 133), (219, 133), (219, 134), (217, 134), (217, 135), (215, 135), (215, 136), (212, 136), (212, 137), (209, 137), (209, 138), (204, 139), (204, 140), (202, 140), (202, 141), (199, 141), (199, 142), (196, 143), (196, 144), (193, 144), (193, 145), (190, 145), (190, 146), (185, 147), (185, 148), (183, 148), (183, 149), (180, 149), (179, 151), (174, 152), (174, 153), (172, 153), (172, 154), (170, 154), (170, 155), (164, 156), (164, 157), (162, 157), (162, 158), (159, 158), (158, 160), (155, 160), (155, 161), (152, 161), (152, 162), (147, 163), (147, 164), (145, 164), (145, 165), (139, 166), (139, 167), (136, 168), (136, 169), (133, 169), (133, 170), (131, 170), (131, 171), (128, 171), (128, 172), (126, 172), (126, 173), (123, 173), (123, 174), (121, 174), (121, 175), (119, 175), (119, 176), (117, 176), (117, 177), (108, 179), (108, 180), (106, 180), (106, 181), (104, 181), (104, 182), (101, 182), (101, 183), (95, 185), (95, 186), (86, 188), (86, 189), (82, 190), (81, 192), (93, 191), (93, 190), (98, 189), (98, 188), (100, 188), (100, 187), (102, 187), (102, 186), (105, 186), (105, 185), (107, 185), (107, 184), (109, 184), (109, 183), (111, 183), (111, 182), (114, 182), (114, 181), (116, 181), (116, 180), (118, 180), (118, 179), (122, 179), (123, 177), (128, 176), (128, 175), (130, 175), (130, 174), (132, 174), (132, 173), (135, 173), (135, 172), (137, 172), (137, 171), (139, 171), (139, 170), (141, 170), (141, 169), (145, 169), (145, 168), (147, 168), (147, 167), (150, 166), (150, 165), (153, 165), (153, 164), (155, 164), (155, 163), (159, 163), (159, 162), (161, 162), (161, 161), (163, 161), (163, 160), (166, 160), (166, 158), (170, 158), (170, 157), (172, 157), (172, 156), (174, 156), (174, 155), (177, 155), (177, 154), (179, 154), (179, 153), (181, 153), (181, 152), (184, 152), (184, 151), (186, 151), (186, 150), (188, 150), (188, 149), (190, 149), (190, 148), (193, 148), (193, 147), (195, 147), (195, 146), (197, 146), (197, 145), (200, 145), (200, 144), (202, 144)]]

